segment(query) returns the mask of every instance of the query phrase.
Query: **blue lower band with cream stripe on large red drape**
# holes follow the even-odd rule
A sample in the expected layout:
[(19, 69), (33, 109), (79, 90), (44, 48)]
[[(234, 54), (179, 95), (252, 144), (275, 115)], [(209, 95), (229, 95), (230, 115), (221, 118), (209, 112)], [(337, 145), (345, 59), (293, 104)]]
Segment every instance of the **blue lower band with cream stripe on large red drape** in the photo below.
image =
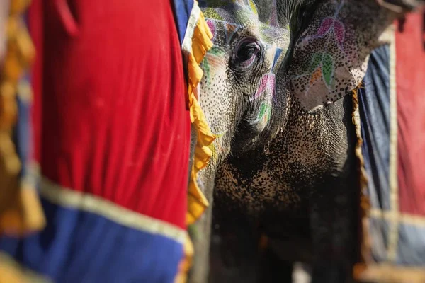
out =
[(0, 248), (52, 282), (174, 282), (183, 229), (81, 194), (40, 183), (47, 228)]

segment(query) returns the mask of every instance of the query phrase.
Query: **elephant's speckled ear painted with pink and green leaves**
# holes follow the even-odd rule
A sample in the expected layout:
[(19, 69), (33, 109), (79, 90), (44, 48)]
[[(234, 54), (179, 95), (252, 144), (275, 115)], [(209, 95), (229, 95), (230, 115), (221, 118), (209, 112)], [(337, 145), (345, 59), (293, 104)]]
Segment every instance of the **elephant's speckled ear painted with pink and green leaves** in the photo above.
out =
[[(382, 3), (384, 3), (382, 5)], [(309, 112), (358, 87), (370, 52), (395, 18), (423, 0), (323, 1), (293, 47), (289, 90)], [(399, 11), (388, 8), (398, 7)]]

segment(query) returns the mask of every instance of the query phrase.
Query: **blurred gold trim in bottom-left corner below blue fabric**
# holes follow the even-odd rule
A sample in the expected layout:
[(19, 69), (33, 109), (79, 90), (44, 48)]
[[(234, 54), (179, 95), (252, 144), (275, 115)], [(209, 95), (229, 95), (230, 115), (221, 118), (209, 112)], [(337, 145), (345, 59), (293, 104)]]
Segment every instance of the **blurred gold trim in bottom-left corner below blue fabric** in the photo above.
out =
[(10, 255), (0, 252), (0, 283), (52, 283), (52, 281), (22, 267)]

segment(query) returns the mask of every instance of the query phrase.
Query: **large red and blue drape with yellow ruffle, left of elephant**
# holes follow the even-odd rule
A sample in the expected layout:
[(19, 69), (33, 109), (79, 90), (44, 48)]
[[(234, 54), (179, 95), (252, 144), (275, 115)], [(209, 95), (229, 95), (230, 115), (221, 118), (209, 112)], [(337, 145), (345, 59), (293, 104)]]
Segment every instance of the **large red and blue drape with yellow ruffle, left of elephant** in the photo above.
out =
[(188, 215), (208, 205), (195, 186), (200, 207), (188, 207), (191, 122), (210, 142), (195, 94), (211, 42), (196, 2), (33, 0), (28, 26), (33, 98), (18, 99), (14, 144), (46, 226), (2, 233), (0, 263), (34, 276), (0, 265), (0, 282), (184, 280)]

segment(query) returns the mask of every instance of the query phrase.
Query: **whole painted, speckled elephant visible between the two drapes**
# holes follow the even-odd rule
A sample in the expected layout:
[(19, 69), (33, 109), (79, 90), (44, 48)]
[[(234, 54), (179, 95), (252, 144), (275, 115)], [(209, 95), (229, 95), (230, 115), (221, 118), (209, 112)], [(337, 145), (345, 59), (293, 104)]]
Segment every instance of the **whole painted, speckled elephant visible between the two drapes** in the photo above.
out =
[(359, 180), (350, 95), (385, 30), (422, 3), (200, 1), (215, 44), (200, 105), (217, 139), (198, 178), (213, 209), (191, 233), (190, 282), (207, 281), (210, 238), (212, 282), (290, 281), (294, 261), (312, 265), (313, 282), (352, 279)]

